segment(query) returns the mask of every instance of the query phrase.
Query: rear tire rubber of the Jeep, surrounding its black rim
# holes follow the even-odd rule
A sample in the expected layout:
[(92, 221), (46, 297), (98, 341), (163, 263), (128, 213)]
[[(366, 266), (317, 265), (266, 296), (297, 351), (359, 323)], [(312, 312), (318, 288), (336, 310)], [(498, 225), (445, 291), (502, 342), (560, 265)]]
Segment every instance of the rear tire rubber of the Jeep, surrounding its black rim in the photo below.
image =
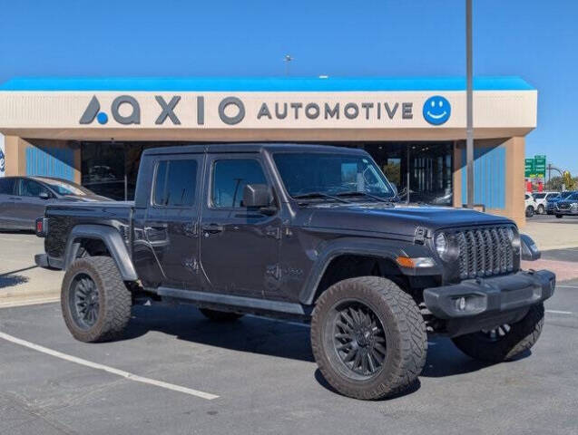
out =
[[(88, 275), (98, 289), (98, 315), (95, 324), (83, 328), (74, 319), (70, 292), (75, 277)], [(64, 323), (73, 337), (85, 343), (107, 342), (118, 338), (131, 318), (132, 295), (122, 281), (118, 267), (110, 256), (79, 258), (64, 275), (61, 306)]]

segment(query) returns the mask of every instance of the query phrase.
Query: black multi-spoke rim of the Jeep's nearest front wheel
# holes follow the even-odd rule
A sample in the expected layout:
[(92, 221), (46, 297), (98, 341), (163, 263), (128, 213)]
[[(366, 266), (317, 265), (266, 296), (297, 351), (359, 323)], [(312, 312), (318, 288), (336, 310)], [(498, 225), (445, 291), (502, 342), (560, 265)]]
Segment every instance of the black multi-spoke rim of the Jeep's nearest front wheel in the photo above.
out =
[(331, 318), (335, 351), (352, 377), (367, 379), (377, 374), (387, 354), (386, 333), (377, 315), (354, 300), (338, 304)]

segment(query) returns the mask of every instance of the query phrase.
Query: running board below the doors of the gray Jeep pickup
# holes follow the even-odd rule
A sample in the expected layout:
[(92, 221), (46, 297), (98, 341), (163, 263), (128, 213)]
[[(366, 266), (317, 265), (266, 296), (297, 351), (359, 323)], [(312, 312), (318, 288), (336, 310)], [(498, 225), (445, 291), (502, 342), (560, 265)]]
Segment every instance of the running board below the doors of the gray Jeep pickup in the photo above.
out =
[(156, 291), (157, 295), (174, 297), (176, 299), (186, 299), (187, 301), (205, 303), (205, 304), (220, 304), (228, 305), (230, 307), (242, 307), (255, 310), (272, 311), (277, 313), (287, 314), (306, 314), (303, 310), (303, 305), (294, 304), (291, 302), (270, 301), (266, 299), (256, 299), (253, 297), (221, 295), (215, 293), (197, 292), (194, 290), (179, 290), (171, 287), (159, 287)]

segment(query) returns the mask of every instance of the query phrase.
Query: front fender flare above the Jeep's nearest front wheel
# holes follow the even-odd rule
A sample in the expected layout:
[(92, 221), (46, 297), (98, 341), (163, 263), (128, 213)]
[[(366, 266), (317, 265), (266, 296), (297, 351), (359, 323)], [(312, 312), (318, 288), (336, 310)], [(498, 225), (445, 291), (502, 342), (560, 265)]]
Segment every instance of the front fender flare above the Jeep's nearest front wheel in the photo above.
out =
[[(403, 240), (383, 240), (367, 239), (357, 237), (344, 237), (333, 240), (325, 245), (320, 252), (312, 249), (308, 252), (314, 258), (315, 264), (311, 268), (305, 284), (299, 292), (299, 302), (301, 304), (313, 304), (313, 298), (317, 293), (321, 278), (325, 275), (331, 261), (338, 256), (373, 256), (379, 259), (392, 261), (397, 265), (398, 256), (433, 256), (431, 250), (424, 245), (415, 245), (413, 242)], [(428, 268), (423, 271), (414, 269), (403, 269), (399, 267), (403, 275), (437, 275), (441, 274), (439, 266)]]

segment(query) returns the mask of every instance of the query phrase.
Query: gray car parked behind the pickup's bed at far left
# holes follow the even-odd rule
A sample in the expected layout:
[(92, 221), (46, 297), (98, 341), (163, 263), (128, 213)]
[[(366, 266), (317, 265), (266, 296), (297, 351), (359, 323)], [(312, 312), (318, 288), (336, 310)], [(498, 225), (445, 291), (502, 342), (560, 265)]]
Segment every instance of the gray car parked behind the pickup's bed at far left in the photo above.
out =
[(34, 229), (47, 205), (78, 201), (111, 201), (79, 184), (50, 177), (0, 179), (0, 229)]

